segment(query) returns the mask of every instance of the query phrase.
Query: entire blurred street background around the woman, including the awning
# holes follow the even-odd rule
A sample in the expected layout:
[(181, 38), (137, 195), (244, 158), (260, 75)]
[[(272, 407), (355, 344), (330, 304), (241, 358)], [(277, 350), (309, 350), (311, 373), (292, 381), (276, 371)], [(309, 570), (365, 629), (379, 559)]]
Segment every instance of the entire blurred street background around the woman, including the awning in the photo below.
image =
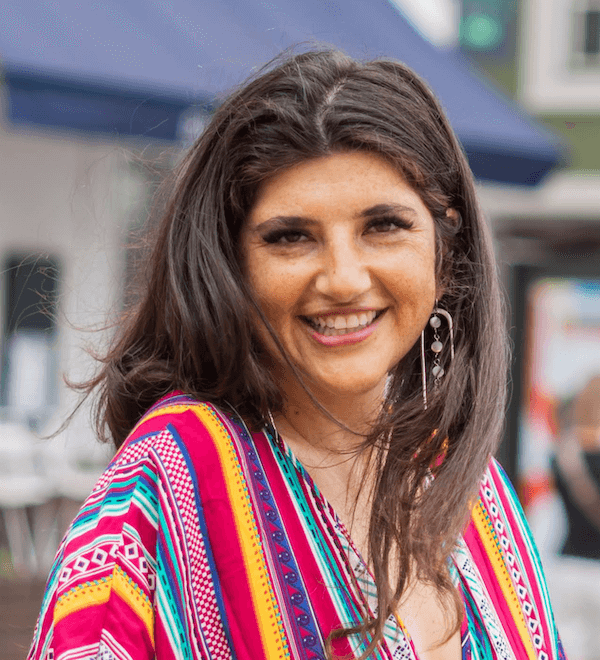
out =
[[(6, 660), (25, 657), (57, 544), (110, 459), (88, 404), (52, 440), (39, 436), (78, 402), (63, 376), (92, 375), (88, 351), (110, 338), (135, 272), (128, 246), (157, 185), (228, 89), (282, 49), (315, 43), (405, 61), (458, 133), (509, 302), (499, 458), (540, 545), (570, 659), (600, 657), (600, 520), (590, 513), (596, 500), (600, 511), (600, 397), (585, 399), (592, 413), (578, 403), (600, 374), (600, 0), (4, 0)], [(567, 436), (584, 438), (570, 467)]]

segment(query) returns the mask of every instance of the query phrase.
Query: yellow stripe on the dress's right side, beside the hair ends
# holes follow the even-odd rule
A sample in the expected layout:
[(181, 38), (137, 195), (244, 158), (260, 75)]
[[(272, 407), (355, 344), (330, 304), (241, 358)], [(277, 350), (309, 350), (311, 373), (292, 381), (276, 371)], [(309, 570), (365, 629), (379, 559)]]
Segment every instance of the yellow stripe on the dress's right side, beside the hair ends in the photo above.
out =
[(512, 618), (517, 626), (519, 634), (521, 635), (521, 640), (527, 651), (527, 656), (529, 660), (537, 660), (537, 654), (531, 641), (527, 624), (525, 623), (521, 604), (519, 603), (515, 587), (498, 547), (492, 523), (483, 508), (481, 500), (479, 500), (473, 508), (473, 522), (475, 523), (475, 528), (485, 546), (487, 556), (489, 557), (494, 573), (496, 574), (496, 579), (498, 580), (498, 584), (504, 594), (504, 599), (506, 600)]

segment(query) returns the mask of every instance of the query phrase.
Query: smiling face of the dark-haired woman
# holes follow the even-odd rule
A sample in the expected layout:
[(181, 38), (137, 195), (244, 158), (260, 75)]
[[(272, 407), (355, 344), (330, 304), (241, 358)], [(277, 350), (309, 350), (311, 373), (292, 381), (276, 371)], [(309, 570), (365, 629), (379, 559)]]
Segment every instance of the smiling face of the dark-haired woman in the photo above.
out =
[[(433, 218), (377, 155), (339, 153), (276, 174), (258, 190), (241, 245), (262, 311), (317, 395), (382, 388), (434, 306)], [(259, 332), (285, 372), (262, 323)]]

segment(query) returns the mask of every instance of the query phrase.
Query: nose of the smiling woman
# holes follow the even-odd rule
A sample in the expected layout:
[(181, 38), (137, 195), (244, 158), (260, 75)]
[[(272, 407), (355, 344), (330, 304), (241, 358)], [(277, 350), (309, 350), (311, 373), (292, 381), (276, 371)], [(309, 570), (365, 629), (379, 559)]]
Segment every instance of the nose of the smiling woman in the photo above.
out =
[(331, 241), (322, 253), (315, 288), (336, 302), (350, 302), (361, 297), (372, 285), (371, 264), (352, 240)]

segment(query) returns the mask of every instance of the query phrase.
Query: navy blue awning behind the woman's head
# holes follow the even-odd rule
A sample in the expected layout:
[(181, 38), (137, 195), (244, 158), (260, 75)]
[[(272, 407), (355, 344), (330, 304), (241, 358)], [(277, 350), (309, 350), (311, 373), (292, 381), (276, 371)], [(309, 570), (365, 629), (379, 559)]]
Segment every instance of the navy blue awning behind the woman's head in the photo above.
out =
[[(327, 43), (400, 59), (441, 99), (480, 179), (534, 185), (555, 136), (388, 0), (3, 0), (0, 66), (14, 123), (178, 139), (182, 121), (282, 49)], [(306, 47), (306, 46), (304, 46)]]

